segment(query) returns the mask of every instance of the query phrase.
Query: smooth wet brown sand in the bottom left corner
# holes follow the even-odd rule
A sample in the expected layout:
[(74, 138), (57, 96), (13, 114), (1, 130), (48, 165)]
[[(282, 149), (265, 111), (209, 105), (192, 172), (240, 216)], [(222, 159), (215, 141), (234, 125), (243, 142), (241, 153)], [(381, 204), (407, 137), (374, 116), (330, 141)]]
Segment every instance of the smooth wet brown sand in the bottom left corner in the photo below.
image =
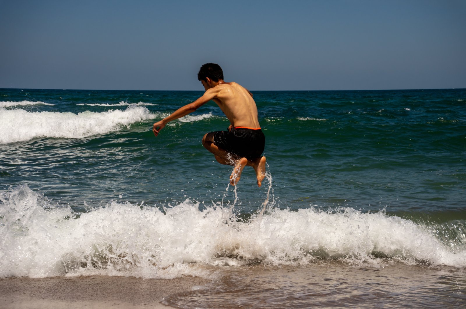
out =
[(191, 291), (210, 280), (135, 277), (51, 277), (0, 279), (2, 309), (170, 308), (164, 297)]

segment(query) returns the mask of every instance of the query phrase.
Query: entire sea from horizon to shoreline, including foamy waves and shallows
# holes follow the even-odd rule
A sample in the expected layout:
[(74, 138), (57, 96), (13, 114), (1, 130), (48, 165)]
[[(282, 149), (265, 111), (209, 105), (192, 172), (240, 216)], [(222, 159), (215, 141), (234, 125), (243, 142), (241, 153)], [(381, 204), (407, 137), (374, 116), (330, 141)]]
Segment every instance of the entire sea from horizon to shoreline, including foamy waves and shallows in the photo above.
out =
[(175, 308), (466, 308), (466, 89), (252, 91), (259, 188), (202, 91), (0, 89), (0, 278), (209, 279)]

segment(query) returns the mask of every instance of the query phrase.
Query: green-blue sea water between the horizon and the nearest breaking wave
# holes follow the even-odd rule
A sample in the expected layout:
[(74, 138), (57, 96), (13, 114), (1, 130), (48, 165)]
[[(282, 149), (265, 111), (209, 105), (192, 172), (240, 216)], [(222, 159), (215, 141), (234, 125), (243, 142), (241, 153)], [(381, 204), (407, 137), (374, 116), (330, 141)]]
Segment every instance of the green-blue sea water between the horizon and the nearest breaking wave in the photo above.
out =
[[(230, 173), (200, 143), (206, 132), (227, 128), (219, 108), (210, 102), (158, 138), (150, 130), (201, 94), (3, 89), (4, 105), (54, 105), (3, 107), (2, 135), (10, 138), (1, 144), (2, 184), (27, 183), (78, 211), (85, 200), (105, 204), (119, 195), (149, 205), (211, 199)], [(466, 219), (466, 90), (259, 91), (254, 99), (276, 206), (419, 210)], [(103, 115), (109, 110), (127, 114)], [(85, 114), (66, 116), (89, 112), (89, 119), (102, 119), (85, 126)], [(104, 128), (107, 116), (111, 128)], [(43, 130), (47, 121), (62, 124)], [(18, 132), (23, 135), (11, 137)], [(252, 169), (239, 189), (240, 206), (254, 211), (264, 189), (256, 188)]]

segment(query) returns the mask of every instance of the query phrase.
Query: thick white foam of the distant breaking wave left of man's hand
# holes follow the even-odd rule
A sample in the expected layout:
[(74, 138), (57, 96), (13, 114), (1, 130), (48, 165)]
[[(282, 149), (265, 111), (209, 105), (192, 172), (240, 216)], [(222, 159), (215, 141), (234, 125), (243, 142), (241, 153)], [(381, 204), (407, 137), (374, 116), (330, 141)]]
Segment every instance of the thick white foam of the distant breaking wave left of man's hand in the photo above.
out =
[(128, 107), (102, 113), (27, 112), (0, 107), (0, 144), (29, 141), (38, 137), (82, 138), (106, 134), (136, 121), (152, 119), (146, 107)]

